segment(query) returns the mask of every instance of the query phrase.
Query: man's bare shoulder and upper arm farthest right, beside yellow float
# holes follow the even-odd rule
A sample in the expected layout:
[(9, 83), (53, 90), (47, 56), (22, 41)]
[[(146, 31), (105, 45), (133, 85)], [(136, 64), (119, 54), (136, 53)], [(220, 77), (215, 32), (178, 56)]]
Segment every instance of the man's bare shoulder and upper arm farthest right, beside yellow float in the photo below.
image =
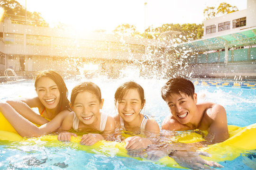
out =
[(205, 137), (205, 140), (210, 142), (210, 144), (215, 144), (228, 139), (227, 114), (224, 107), (219, 104), (213, 104), (210, 109), (206, 110), (206, 113), (213, 122), (208, 128), (208, 135)]

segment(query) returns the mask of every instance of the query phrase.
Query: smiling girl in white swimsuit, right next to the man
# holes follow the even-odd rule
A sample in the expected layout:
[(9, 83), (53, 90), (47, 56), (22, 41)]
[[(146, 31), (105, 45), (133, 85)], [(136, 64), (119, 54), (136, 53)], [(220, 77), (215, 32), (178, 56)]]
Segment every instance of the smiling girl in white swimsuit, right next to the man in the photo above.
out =
[(115, 106), (119, 113), (115, 117), (116, 126), (135, 134), (144, 133), (147, 137), (128, 137), (125, 140), (126, 149), (146, 148), (154, 143), (155, 136), (159, 134), (157, 122), (140, 113), (145, 102), (143, 88), (133, 81), (120, 85), (115, 93)]

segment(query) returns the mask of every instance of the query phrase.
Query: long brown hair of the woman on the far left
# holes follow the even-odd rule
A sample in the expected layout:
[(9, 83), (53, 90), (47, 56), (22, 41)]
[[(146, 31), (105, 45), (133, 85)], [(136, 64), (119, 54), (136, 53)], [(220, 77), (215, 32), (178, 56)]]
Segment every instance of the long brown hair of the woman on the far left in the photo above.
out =
[(66, 84), (64, 83), (62, 76), (53, 70), (44, 70), (44, 71), (39, 72), (38, 75), (36, 76), (36, 80), (35, 80), (36, 90), (37, 90), (38, 80), (42, 77), (48, 77), (48, 78), (52, 79), (58, 86), (58, 90), (60, 92), (60, 102), (58, 104), (57, 110), (60, 110), (60, 111), (66, 110), (66, 109), (71, 110), (70, 105), (69, 105), (70, 102), (67, 98), (68, 90), (67, 90)]

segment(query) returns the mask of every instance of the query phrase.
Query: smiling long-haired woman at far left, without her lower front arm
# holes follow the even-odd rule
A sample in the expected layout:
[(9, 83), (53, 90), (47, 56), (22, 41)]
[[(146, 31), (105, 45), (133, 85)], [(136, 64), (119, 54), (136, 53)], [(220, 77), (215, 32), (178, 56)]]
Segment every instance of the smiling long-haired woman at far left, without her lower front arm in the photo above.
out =
[[(20, 115), (38, 125), (43, 125), (54, 119), (59, 113), (71, 111), (68, 90), (63, 78), (53, 70), (40, 72), (35, 81), (37, 97), (16, 101), (7, 101)], [(31, 108), (38, 108), (38, 115)]]

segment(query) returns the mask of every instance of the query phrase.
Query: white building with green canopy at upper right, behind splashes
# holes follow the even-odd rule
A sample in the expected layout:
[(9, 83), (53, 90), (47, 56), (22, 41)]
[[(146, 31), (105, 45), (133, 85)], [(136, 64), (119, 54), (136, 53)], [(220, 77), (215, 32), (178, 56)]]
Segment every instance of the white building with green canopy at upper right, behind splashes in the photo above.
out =
[(184, 74), (256, 79), (256, 0), (247, 9), (205, 20), (204, 38), (178, 45), (191, 50)]

